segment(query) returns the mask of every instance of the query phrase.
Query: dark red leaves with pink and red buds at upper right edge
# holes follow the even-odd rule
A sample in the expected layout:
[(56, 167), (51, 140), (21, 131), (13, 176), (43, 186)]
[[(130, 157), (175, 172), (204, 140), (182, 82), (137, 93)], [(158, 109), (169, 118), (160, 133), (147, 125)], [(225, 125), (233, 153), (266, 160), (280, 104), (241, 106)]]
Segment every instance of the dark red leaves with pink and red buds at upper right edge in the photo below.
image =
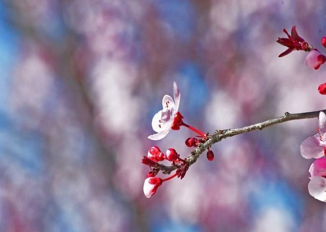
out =
[[(283, 29), (283, 31), (287, 35), (287, 38), (279, 38), (276, 41), (288, 48), (284, 52), (282, 52), (279, 57), (283, 57), (294, 50), (301, 50), (309, 52), (305, 59), (306, 66), (314, 70), (318, 70), (321, 65), (325, 64), (326, 56), (323, 55), (318, 49), (313, 48), (313, 46), (307, 43), (304, 39), (302, 39), (298, 35), (295, 26), (292, 27), (291, 35), (287, 33), (286, 29)], [(323, 37), (321, 42), (326, 48), (326, 37)], [(326, 83), (319, 85), (318, 91), (320, 94), (326, 95)]]

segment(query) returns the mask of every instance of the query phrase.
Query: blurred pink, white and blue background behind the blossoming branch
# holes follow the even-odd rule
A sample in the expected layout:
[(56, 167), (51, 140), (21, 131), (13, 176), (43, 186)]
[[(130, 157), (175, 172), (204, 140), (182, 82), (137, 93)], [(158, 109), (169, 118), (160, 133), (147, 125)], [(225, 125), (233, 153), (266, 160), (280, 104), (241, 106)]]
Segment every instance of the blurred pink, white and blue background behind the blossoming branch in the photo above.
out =
[(299, 152), (317, 119), (215, 144), (147, 199), (164, 94), (204, 132), (326, 109), (326, 67), (278, 58), (293, 25), (323, 51), (325, 0), (1, 0), (0, 231), (325, 231)]

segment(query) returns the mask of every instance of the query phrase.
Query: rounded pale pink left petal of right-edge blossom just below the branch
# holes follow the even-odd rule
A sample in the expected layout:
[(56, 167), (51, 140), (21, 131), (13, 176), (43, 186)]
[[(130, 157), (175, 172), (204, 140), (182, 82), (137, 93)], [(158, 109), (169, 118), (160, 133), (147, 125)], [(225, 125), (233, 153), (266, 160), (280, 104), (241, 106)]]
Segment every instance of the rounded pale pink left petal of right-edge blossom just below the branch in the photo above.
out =
[(324, 156), (324, 144), (319, 134), (305, 139), (300, 146), (300, 153), (304, 158), (320, 158)]

